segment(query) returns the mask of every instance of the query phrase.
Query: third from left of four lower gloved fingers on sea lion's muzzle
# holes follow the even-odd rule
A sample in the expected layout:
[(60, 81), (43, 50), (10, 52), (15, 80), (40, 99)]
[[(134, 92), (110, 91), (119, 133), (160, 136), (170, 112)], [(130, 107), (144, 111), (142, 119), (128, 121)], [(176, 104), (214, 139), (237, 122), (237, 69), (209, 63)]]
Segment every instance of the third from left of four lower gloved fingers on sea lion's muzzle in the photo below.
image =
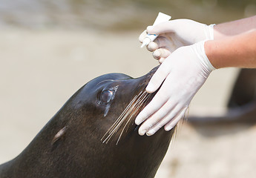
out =
[(161, 119), (160, 122), (157, 122), (156, 125), (154, 125), (149, 131), (147, 131), (147, 136), (153, 135), (165, 124), (167, 124), (171, 119), (176, 118), (176, 116), (180, 116), (180, 113), (182, 113), (182, 111), (183, 109), (180, 108), (178, 105), (174, 109), (171, 108), (168, 114), (163, 119)]

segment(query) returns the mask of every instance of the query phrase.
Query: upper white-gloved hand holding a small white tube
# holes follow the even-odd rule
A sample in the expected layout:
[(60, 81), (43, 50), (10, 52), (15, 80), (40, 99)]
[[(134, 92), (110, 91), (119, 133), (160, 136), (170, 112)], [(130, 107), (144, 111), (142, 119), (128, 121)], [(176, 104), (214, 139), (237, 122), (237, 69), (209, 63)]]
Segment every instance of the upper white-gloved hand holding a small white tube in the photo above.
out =
[(140, 42), (145, 39), (147, 32), (159, 35), (154, 42), (148, 44), (147, 48), (151, 52), (154, 51), (154, 59), (159, 59), (162, 63), (179, 47), (214, 39), (214, 24), (206, 25), (189, 19), (171, 20), (148, 26), (147, 30), (141, 33)]

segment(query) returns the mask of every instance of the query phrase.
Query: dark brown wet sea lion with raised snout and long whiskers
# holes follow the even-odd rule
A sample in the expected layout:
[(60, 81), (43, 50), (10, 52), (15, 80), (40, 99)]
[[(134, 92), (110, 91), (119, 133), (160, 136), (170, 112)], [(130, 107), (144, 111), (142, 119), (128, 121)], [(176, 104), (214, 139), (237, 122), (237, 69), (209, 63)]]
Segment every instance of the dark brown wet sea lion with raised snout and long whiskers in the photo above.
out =
[(154, 93), (157, 70), (133, 79), (110, 73), (80, 88), (19, 156), (0, 166), (1, 178), (151, 178), (174, 129), (140, 136), (134, 119)]

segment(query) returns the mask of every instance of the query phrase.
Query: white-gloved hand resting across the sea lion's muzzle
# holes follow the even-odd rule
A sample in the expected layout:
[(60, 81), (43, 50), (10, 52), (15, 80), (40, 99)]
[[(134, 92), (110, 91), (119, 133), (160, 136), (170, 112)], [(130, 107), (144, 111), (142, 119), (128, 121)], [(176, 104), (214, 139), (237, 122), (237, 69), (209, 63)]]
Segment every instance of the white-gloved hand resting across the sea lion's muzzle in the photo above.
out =
[(191, 99), (214, 70), (206, 56), (204, 43), (178, 48), (154, 73), (146, 88), (148, 93), (163, 85), (135, 120), (137, 125), (143, 122), (140, 135), (153, 135), (163, 125), (165, 131), (170, 131), (183, 118)]

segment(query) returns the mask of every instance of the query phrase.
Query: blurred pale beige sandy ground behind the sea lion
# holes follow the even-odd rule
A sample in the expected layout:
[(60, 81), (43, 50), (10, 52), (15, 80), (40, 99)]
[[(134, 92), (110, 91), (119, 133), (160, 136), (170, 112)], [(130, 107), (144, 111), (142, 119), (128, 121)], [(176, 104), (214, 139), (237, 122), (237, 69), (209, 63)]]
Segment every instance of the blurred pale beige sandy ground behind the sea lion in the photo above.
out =
[[(0, 163), (17, 156), (65, 101), (104, 73), (142, 76), (158, 65), (132, 33), (6, 30), (0, 33)], [(211, 73), (191, 114), (219, 114), (237, 70)], [(255, 177), (255, 125), (183, 124), (157, 178)]]

